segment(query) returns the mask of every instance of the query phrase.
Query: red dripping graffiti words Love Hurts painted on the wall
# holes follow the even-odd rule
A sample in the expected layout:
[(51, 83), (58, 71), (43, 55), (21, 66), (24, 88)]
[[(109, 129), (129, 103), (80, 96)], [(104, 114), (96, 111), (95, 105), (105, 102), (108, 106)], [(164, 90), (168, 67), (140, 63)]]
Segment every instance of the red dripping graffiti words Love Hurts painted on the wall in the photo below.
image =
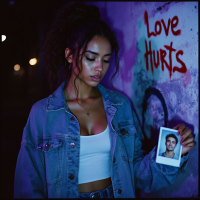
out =
[[(160, 35), (161, 32), (162, 32), (162, 27), (164, 28), (165, 35), (168, 36), (170, 25), (171, 25), (171, 32), (174, 36), (178, 36), (178, 35), (181, 34), (181, 30), (174, 30), (174, 28), (177, 27), (178, 22), (179, 22), (179, 19), (178, 19), (177, 16), (174, 16), (172, 18), (172, 20), (168, 19), (167, 26), (166, 26), (163, 19), (161, 19), (161, 22), (156, 21), (155, 26), (154, 26), (155, 32), (149, 32), (149, 19), (148, 19), (147, 11), (145, 11), (145, 13), (144, 13), (144, 21), (145, 21), (145, 24), (147, 26), (147, 36), (148, 36), (148, 38), (150, 38), (151, 36), (156, 37), (157, 35)], [(162, 25), (161, 25), (161, 23), (162, 23)], [(150, 64), (151, 64), (152, 73), (154, 71), (154, 66), (155, 66), (155, 68), (158, 68), (160, 63), (161, 63), (162, 71), (164, 71), (164, 65), (166, 66), (167, 70), (169, 71), (170, 79), (171, 79), (171, 76), (172, 76), (172, 72), (174, 73), (175, 71), (178, 71), (179, 73), (186, 73), (187, 72), (186, 65), (179, 58), (179, 55), (183, 55), (183, 51), (179, 50), (179, 51), (176, 52), (176, 49), (174, 49), (172, 46), (173, 46), (173, 42), (170, 43), (170, 46), (164, 45), (165, 49), (160, 48), (159, 50), (157, 50), (155, 52), (155, 50), (152, 51), (152, 49), (151, 49), (151, 41), (149, 41), (149, 45), (147, 45), (147, 41), (145, 40), (146, 53), (144, 54), (144, 57), (145, 57), (145, 60), (146, 60), (147, 71), (149, 70), (148, 56), (150, 56)], [(169, 63), (165, 59), (165, 57), (167, 55), (167, 51), (168, 51), (168, 54), (169, 54)], [(173, 67), (173, 65), (172, 65), (172, 53), (173, 52), (176, 52), (176, 61), (181, 64), (181, 67), (177, 67), (177, 66)], [(155, 54), (157, 56), (155, 56)], [(157, 59), (156, 59), (156, 57), (157, 57)]]

